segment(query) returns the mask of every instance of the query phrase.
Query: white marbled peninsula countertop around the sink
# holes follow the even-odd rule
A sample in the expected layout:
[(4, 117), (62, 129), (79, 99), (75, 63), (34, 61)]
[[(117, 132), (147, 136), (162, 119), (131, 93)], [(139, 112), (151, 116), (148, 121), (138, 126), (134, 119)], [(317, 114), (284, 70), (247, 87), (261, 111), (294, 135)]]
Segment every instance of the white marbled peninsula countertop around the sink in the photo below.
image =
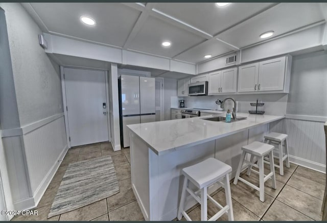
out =
[[(216, 112), (221, 113), (221, 111)], [(252, 115), (248, 113), (237, 113), (237, 116), (247, 117), (247, 119), (225, 123), (203, 120), (204, 117), (212, 117), (203, 116), (133, 124), (127, 125), (127, 127), (141, 138), (156, 154), (162, 155), (177, 149), (219, 139), (250, 127), (285, 118), (285, 116)]]

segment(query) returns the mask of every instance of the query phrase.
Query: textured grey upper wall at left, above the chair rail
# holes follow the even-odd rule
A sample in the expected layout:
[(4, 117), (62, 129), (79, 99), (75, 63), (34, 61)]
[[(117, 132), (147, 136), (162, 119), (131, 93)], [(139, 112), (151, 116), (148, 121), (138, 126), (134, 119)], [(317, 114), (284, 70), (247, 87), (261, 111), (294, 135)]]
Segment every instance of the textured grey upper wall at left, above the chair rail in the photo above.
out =
[(59, 70), (39, 46), (41, 30), (19, 3), (0, 7), (6, 13), (20, 125), (61, 113)]

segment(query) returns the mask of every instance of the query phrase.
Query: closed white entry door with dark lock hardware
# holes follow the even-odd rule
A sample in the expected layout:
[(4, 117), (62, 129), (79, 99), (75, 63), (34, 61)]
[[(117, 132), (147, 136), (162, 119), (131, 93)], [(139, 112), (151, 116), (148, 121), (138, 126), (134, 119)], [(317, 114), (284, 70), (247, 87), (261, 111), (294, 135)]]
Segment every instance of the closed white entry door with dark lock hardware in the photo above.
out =
[(64, 68), (71, 146), (109, 140), (104, 71)]

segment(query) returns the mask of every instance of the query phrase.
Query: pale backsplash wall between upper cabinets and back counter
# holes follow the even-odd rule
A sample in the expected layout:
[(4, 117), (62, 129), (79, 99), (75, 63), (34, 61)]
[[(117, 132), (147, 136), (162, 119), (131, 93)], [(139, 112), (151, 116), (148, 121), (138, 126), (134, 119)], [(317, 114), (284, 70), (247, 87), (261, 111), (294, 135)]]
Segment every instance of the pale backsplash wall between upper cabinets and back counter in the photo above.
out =
[[(184, 99), (185, 106), (190, 108), (208, 108), (217, 109), (215, 101), (231, 97), (237, 101), (237, 111), (248, 113), (249, 110), (255, 110), (250, 102), (265, 103), (263, 110), (267, 115), (285, 115), (287, 106), (287, 94), (253, 94), (253, 95), (214, 95), (214, 96), (190, 96), (190, 97), (172, 97), (172, 104), (178, 104), (178, 100)], [(225, 109), (231, 109), (233, 102), (227, 100)]]

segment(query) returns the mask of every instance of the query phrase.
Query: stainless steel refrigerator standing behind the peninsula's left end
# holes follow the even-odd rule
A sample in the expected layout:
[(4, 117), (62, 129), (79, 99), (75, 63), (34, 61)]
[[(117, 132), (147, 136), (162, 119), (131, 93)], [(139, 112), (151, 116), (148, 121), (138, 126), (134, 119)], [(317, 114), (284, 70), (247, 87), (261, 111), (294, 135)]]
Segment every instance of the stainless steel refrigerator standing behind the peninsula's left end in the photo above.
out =
[(129, 147), (127, 125), (155, 121), (155, 79), (121, 75), (119, 83), (121, 143)]

